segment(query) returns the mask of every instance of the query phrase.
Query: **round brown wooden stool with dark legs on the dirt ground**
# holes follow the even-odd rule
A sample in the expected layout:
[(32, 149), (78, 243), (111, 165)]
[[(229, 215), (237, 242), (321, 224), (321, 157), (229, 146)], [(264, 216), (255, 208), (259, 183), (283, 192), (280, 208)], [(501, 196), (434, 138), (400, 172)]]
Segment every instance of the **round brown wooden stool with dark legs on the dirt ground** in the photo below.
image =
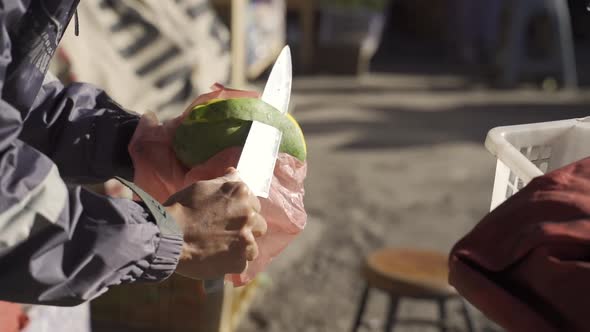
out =
[[(435, 322), (442, 332), (447, 331), (446, 302), (462, 300), (447, 282), (447, 257), (435, 252), (414, 249), (382, 249), (367, 257), (363, 267), (366, 286), (361, 297), (352, 331), (357, 331), (363, 318), (371, 288), (385, 291), (390, 302), (385, 332), (392, 331), (399, 301), (402, 298), (432, 300), (438, 304), (439, 320)], [(462, 302), (467, 330), (473, 331), (468, 308)]]

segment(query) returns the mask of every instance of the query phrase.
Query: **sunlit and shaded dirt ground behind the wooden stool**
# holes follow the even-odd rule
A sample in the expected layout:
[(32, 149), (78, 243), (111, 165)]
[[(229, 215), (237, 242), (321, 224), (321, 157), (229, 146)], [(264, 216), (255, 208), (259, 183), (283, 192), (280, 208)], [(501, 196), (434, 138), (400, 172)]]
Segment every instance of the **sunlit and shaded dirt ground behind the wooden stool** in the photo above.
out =
[[(489, 129), (590, 114), (585, 92), (465, 86), (452, 76), (415, 75), (295, 82), (295, 116), (309, 147), (308, 227), (272, 265), (239, 332), (349, 330), (364, 255), (382, 246), (446, 253), (485, 215), (495, 168), (483, 145)], [(386, 304), (375, 292), (364, 331), (382, 330)], [(451, 331), (464, 331), (457, 309), (449, 311)], [(402, 318), (436, 314), (430, 303), (401, 303)]]

